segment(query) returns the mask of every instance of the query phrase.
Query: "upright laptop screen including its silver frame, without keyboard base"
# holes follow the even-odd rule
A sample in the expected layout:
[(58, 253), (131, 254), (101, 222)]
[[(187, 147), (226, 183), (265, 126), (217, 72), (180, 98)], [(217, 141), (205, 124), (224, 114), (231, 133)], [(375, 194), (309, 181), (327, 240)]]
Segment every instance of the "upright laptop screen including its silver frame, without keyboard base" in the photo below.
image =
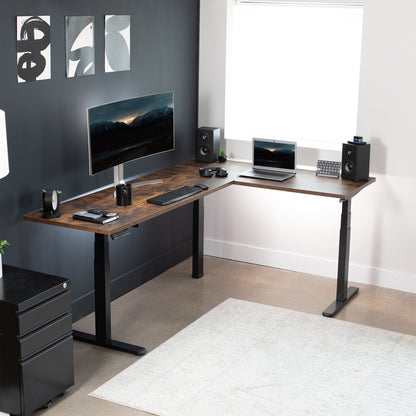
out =
[(296, 142), (253, 139), (253, 168), (296, 172)]

